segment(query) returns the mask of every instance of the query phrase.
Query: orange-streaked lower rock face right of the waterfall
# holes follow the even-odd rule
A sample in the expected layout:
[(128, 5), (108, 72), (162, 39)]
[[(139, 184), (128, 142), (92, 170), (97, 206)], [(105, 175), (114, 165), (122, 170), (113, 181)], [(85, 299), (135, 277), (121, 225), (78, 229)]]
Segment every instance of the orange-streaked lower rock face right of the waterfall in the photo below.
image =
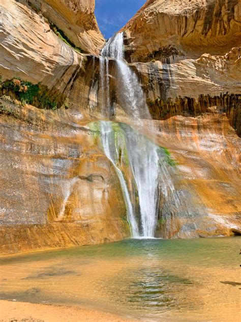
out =
[[(209, 237), (240, 234), (240, 139), (225, 113), (204, 113), (197, 117), (172, 116), (155, 121), (158, 143), (168, 147), (179, 174), (175, 189), (193, 204), (183, 203), (182, 213), (191, 206), (191, 216), (173, 217), (171, 232), (162, 224), (162, 237)], [(201, 205), (201, 215), (195, 209)], [(183, 227), (189, 227), (185, 231)], [(193, 230), (191, 233), (190, 231)]]

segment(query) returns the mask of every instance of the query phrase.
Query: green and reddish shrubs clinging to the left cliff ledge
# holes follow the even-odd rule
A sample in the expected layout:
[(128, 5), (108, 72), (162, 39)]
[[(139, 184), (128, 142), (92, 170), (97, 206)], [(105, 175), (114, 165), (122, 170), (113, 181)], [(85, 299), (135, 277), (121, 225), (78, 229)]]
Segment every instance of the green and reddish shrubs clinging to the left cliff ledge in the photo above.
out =
[[(2, 79), (1, 79), (2, 80)], [(5, 82), (0, 80), (0, 96), (8, 94), (21, 101), (23, 105), (31, 104), (41, 109), (56, 110), (57, 98), (50, 96), (46, 87), (40, 83), (22, 81), (18, 77), (8, 79)]]

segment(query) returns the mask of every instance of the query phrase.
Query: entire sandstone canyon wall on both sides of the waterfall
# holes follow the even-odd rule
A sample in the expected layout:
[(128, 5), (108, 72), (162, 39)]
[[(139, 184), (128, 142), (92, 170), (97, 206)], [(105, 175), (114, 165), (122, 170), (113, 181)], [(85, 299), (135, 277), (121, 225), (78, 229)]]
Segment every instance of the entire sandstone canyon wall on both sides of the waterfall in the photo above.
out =
[[(57, 101), (39, 109), (1, 89), (2, 253), (130, 236), (119, 179), (93, 126), (102, 118), (104, 44), (94, 1), (1, 0), (0, 10), (2, 81), (41, 83)], [(159, 213), (158, 236), (241, 232), (240, 12), (238, 1), (150, 0), (123, 29), (154, 119), (145, 134), (154, 126), (175, 159), (168, 169), (179, 198), (191, 195), (203, 209), (200, 217), (183, 202), (168, 233)], [(110, 118), (129, 123), (117, 72), (111, 60)]]

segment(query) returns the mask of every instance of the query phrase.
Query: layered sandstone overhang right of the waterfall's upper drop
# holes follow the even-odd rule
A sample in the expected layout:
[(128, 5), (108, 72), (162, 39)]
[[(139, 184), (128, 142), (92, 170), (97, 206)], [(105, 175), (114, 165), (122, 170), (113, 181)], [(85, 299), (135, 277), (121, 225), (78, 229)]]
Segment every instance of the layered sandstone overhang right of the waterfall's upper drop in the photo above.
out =
[(241, 134), (238, 1), (150, 0), (123, 28), (155, 119), (226, 113)]

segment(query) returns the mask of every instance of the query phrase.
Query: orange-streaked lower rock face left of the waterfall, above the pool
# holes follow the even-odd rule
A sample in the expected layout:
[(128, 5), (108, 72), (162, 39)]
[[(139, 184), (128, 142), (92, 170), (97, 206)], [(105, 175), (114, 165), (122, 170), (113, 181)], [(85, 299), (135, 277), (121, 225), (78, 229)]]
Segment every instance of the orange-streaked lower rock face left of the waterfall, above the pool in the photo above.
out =
[(89, 121), (1, 100), (3, 253), (130, 234), (118, 178)]

